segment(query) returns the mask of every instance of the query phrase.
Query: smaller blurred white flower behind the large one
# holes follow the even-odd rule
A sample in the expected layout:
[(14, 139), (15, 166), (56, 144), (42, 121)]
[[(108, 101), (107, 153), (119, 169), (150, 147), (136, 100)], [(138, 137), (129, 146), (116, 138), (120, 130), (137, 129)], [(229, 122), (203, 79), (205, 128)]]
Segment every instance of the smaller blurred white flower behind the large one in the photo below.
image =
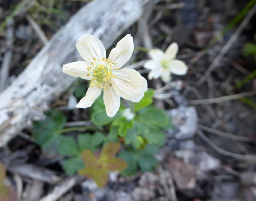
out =
[(151, 70), (148, 78), (161, 77), (164, 82), (168, 82), (171, 79), (171, 73), (185, 75), (188, 70), (187, 65), (183, 61), (175, 59), (178, 49), (178, 44), (172, 43), (165, 53), (159, 49), (150, 50), (149, 54), (152, 60), (144, 64), (144, 68)]

